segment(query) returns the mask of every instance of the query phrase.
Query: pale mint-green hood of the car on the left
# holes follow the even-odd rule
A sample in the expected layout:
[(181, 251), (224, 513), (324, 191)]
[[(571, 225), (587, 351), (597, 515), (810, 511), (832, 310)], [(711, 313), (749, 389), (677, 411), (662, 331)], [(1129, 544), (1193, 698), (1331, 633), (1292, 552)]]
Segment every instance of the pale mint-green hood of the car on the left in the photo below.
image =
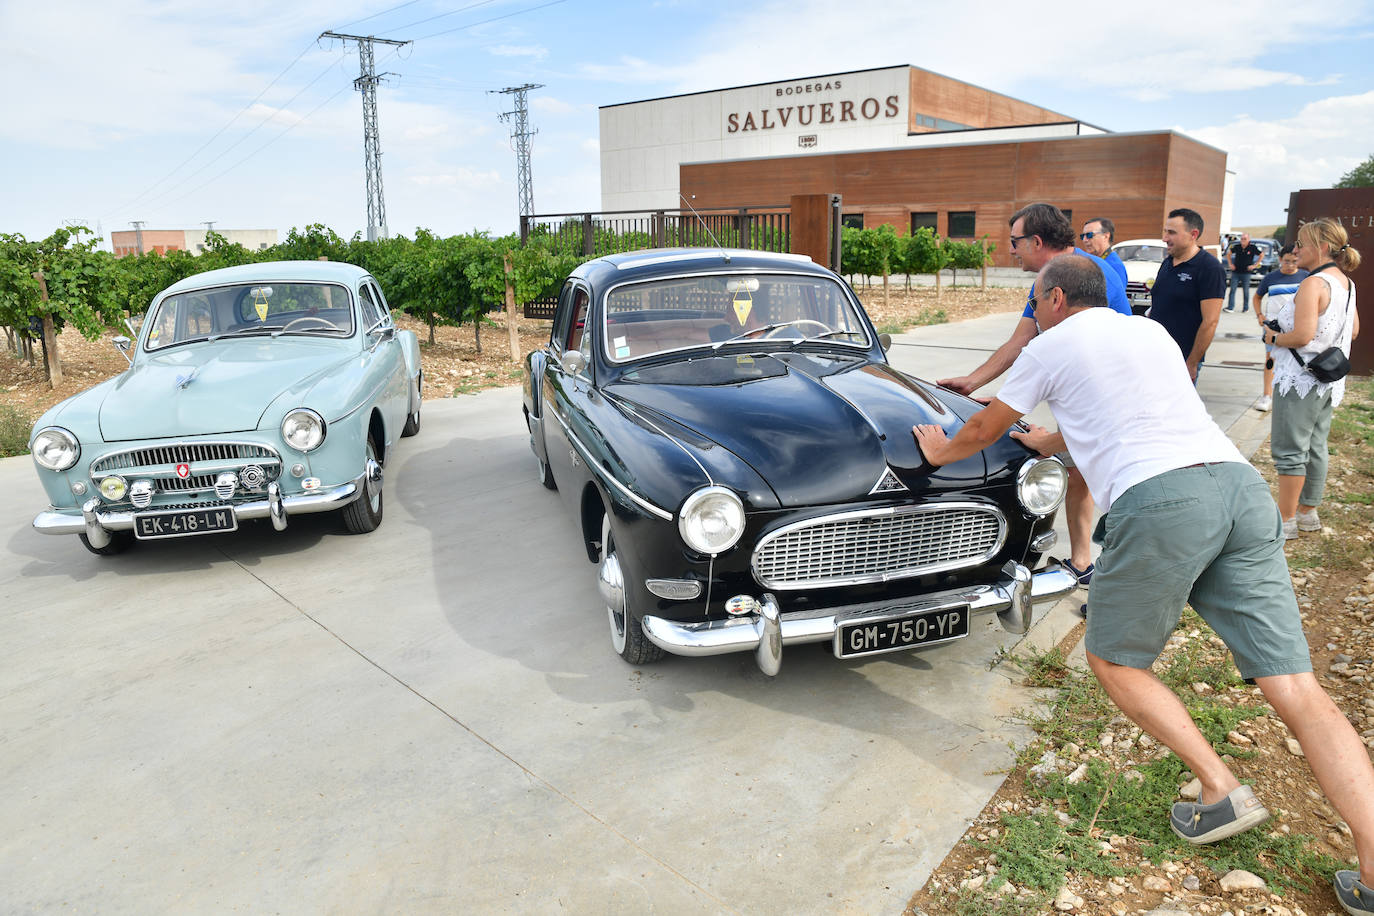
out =
[(103, 393), (100, 437), (117, 442), (256, 430), (279, 394), (308, 389), (350, 356), (338, 341), (267, 336), (140, 354)]

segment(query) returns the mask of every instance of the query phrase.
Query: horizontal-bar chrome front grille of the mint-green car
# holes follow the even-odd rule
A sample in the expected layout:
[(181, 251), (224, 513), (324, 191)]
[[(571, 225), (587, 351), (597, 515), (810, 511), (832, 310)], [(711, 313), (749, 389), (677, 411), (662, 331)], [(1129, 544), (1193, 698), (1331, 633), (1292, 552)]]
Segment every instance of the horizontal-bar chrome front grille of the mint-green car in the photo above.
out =
[[(177, 477), (179, 464), (188, 466), (187, 477)], [(174, 442), (102, 455), (91, 463), (91, 481), (99, 486), (100, 479), (110, 474), (129, 482), (143, 478), (153, 481), (159, 494), (185, 499), (213, 493), (217, 475), (225, 471), (240, 474), (247, 467), (261, 470), (261, 485), (246, 489), (261, 492), (282, 475), (282, 456), (254, 442)]]

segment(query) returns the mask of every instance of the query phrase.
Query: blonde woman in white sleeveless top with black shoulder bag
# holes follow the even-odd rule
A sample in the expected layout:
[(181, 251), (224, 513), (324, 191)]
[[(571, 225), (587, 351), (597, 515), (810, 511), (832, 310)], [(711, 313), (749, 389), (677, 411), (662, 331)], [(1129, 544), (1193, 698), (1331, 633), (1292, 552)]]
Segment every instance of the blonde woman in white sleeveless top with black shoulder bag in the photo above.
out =
[(1264, 342), (1275, 345), (1270, 450), (1279, 474), (1278, 504), (1286, 538), (1322, 530), (1316, 507), (1326, 490), (1326, 437), (1331, 409), (1345, 393), (1345, 379), (1318, 382), (1293, 350), (1304, 364), (1333, 346), (1349, 356), (1351, 341), (1360, 332), (1355, 283), (1347, 276), (1359, 268), (1360, 253), (1351, 247), (1345, 227), (1330, 218), (1307, 222), (1297, 231), (1293, 247), (1298, 266), (1312, 273), (1279, 310), (1282, 331), (1264, 331)]

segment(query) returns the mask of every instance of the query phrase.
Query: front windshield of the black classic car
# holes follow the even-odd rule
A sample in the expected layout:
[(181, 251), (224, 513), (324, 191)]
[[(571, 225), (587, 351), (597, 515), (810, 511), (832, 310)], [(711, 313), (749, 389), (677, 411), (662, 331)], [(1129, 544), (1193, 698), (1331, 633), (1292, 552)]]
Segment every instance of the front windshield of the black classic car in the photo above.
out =
[(823, 276), (723, 273), (631, 283), (606, 297), (605, 323), (606, 356), (614, 361), (760, 341), (870, 346), (844, 287)]

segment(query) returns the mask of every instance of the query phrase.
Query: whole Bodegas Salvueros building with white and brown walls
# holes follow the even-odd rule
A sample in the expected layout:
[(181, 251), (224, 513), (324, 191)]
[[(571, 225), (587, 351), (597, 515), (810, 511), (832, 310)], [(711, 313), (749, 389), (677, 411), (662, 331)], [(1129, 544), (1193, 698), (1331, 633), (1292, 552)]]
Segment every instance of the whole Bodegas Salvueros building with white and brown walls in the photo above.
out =
[(1171, 130), (1112, 133), (919, 67), (785, 80), (600, 108), (602, 209), (769, 206), (840, 194), (845, 222), (996, 243), (1036, 201), (1117, 238), (1171, 209), (1230, 228), (1226, 152)]

